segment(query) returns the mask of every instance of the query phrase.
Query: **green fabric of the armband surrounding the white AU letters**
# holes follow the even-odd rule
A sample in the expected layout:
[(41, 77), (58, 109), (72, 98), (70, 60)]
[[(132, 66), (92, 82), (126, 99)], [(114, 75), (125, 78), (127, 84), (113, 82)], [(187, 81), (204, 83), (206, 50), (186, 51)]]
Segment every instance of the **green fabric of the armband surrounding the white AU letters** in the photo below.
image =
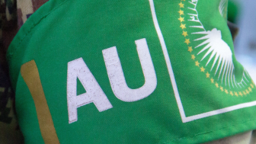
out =
[[(234, 49), (225, 15), (219, 8), (222, 1), (154, 0), (154, 5), (149, 2), (51, 0), (30, 16), (8, 49), (16, 109), (25, 143), (43, 143), (34, 101), (20, 73), (21, 66), (33, 59), (60, 143), (199, 143), (256, 129), (256, 90), (235, 56), (228, 56)], [(170, 59), (167, 60), (162, 51), (164, 43), (159, 40), (152, 18), (152, 8), (155, 8), (168, 50)], [(193, 14), (198, 14), (200, 21), (189, 21)], [(178, 20), (180, 17), (184, 21)], [(197, 28), (200, 26), (203, 28)], [(221, 30), (222, 39), (218, 39), (219, 33), (214, 28)], [(146, 79), (135, 40), (144, 38), (157, 86), (152, 94), (139, 101), (121, 101), (111, 88), (102, 50), (116, 46), (126, 84), (132, 89), (140, 88)], [(205, 40), (210, 46), (206, 43), (199, 46)], [(214, 50), (206, 55), (211, 47)], [(206, 65), (212, 53), (213, 59)], [(220, 58), (232, 59), (226, 60), (231, 64), (223, 65), (222, 72), (224, 60), (220, 61), (217, 72), (219, 60), (213, 66), (218, 53)], [(93, 103), (85, 104), (77, 109), (78, 120), (69, 123), (68, 63), (79, 58), (88, 66), (113, 107), (100, 112)], [(168, 60), (171, 60), (175, 81), (170, 78)], [(79, 81), (77, 94), (90, 91), (83, 89)], [(179, 98), (184, 108), (184, 121), (181, 105), (178, 107)], [(211, 111), (213, 113), (206, 116)], [(202, 114), (205, 117), (201, 117)]]

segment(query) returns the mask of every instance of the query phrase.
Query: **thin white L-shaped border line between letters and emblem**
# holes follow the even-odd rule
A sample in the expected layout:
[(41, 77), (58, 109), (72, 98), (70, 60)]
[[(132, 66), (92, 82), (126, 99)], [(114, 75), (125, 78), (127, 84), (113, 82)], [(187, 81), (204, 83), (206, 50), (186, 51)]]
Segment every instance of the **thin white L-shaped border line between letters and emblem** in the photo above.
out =
[(180, 95), (178, 93), (178, 88), (177, 88), (177, 84), (176, 84), (176, 81), (175, 81), (175, 78), (174, 78), (174, 72), (173, 72), (172, 67), (171, 67), (171, 60), (170, 60), (170, 57), (168, 55), (168, 50), (167, 50), (166, 45), (165, 45), (165, 40), (164, 40), (164, 37), (162, 35), (162, 31), (160, 30), (158, 20), (156, 18), (155, 6), (154, 6), (153, 0), (149, 0), (149, 4), (150, 4), (151, 12), (152, 12), (152, 18), (153, 18), (153, 21), (154, 21), (155, 30), (158, 34), (158, 38), (159, 38), (161, 46), (162, 46), (162, 51), (163, 51), (164, 56), (165, 56), (165, 62), (166, 62), (167, 68), (168, 68), (170, 78), (171, 78), (171, 85), (172, 85), (172, 88), (174, 90), (174, 95), (175, 95), (175, 98), (176, 98), (176, 101), (177, 101), (177, 104), (178, 104), (178, 109), (180, 111), (181, 120), (182, 120), (183, 123), (187, 123), (187, 122), (190, 122), (190, 121), (193, 121), (193, 120), (198, 120), (198, 119), (201, 119), (201, 118), (204, 118), (204, 117), (210, 117), (210, 116), (217, 115), (217, 114), (223, 114), (223, 113), (226, 113), (226, 112), (229, 112), (229, 111), (232, 111), (232, 110), (238, 110), (238, 109), (245, 108), (245, 107), (253, 107), (253, 106), (256, 105), (256, 101), (252, 101), (252, 102), (248, 102), (248, 103), (244, 103), (244, 104), (237, 104), (237, 105), (232, 106), (232, 107), (226, 107), (226, 108), (222, 108), (222, 109), (219, 109), (219, 110), (213, 110), (213, 111), (203, 113), (203, 114), (197, 114), (197, 115), (194, 115), (194, 116), (186, 117), (183, 105), (181, 103), (181, 98), (180, 98)]

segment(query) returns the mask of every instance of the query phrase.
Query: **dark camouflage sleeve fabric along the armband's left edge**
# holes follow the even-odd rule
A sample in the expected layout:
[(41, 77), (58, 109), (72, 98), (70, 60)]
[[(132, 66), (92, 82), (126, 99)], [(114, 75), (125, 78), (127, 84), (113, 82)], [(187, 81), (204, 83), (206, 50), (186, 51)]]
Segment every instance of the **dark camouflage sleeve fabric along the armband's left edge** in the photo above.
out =
[(5, 53), (18, 29), (48, 0), (0, 0), (0, 143), (24, 143), (15, 117), (14, 92), (8, 78)]

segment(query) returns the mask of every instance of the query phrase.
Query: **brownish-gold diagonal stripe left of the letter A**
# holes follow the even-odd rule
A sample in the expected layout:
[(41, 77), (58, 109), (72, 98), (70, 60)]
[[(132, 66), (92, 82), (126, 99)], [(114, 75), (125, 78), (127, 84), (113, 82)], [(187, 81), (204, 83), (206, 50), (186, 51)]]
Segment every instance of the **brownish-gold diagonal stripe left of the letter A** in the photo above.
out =
[(43, 92), (37, 64), (34, 60), (24, 63), (24, 65), (21, 66), (21, 76), (24, 78), (24, 82), (26, 82), (34, 100), (43, 141), (46, 144), (59, 143), (59, 139), (53, 125), (53, 119)]

